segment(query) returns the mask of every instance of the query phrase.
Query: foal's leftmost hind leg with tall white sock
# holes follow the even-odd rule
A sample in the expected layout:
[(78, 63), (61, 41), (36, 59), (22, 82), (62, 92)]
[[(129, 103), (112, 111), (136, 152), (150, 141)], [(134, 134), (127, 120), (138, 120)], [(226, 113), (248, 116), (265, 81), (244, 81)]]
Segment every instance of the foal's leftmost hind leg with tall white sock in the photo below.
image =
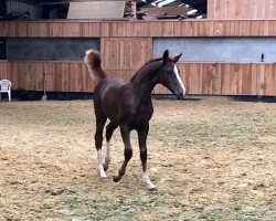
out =
[(97, 170), (102, 178), (107, 177), (104, 166), (103, 166), (103, 156), (102, 156), (102, 146), (103, 146), (103, 130), (106, 123), (107, 117), (96, 117), (96, 134), (95, 134), (95, 146), (97, 149)]

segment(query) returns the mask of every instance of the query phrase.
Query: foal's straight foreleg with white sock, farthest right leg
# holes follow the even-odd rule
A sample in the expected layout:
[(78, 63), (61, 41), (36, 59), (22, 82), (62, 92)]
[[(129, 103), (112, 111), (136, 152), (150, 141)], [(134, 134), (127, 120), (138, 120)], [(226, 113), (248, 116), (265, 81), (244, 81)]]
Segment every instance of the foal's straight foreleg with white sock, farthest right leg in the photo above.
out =
[(149, 125), (145, 125), (141, 129), (138, 130), (139, 139), (139, 149), (140, 149), (140, 159), (142, 167), (142, 181), (148, 188), (148, 190), (157, 190), (156, 186), (150, 181), (148, 176), (148, 165), (147, 165), (147, 136), (149, 131)]

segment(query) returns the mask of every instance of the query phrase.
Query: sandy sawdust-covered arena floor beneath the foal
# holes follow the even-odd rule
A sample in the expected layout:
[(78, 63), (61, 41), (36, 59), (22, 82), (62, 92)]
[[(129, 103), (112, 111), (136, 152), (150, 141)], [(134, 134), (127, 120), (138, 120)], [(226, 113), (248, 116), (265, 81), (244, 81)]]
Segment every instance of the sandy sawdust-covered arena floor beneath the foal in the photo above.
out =
[(276, 220), (276, 104), (155, 101), (149, 172), (137, 136), (126, 176), (118, 131), (98, 178), (93, 101), (0, 103), (0, 220)]

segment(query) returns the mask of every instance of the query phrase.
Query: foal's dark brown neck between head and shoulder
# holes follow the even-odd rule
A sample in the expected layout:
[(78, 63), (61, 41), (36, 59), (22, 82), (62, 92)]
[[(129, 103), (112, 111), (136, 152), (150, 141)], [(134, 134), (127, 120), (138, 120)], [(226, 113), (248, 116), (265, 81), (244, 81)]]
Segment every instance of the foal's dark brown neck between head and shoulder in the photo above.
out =
[(151, 96), (153, 87), (157, 85), (155, 72), (158, 71), (160, 62), (152, 62), (142, 67), (130, 82), (137, 94), (141, 97)]

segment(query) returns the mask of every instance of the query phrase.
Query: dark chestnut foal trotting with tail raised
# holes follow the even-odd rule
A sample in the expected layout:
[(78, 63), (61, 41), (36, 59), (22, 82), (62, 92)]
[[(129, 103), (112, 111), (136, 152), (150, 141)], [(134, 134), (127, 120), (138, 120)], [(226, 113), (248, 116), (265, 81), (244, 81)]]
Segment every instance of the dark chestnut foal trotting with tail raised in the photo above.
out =
[[(156, 190), (156, 186), (150, 181), (147, 173), (146, 143), (149, 120), (153, 114), (151, 92), (157, 84), (162, 84), (178, 99), (183, 99), (185, 87), (176, 66), (181, 54), (171, 57), (169, 56), (169, 51), (166, 50), (162, 57), (149, 61), (132, 76), (129, 83), (124, 83), (123, 78), (107, 77), (102, 69), (102, 60), (97, 51), (86, 51), (85, 63), (91, 74), (97, 81), (94, 90), (94, 109), (96, 115), (95, 145), (97, 149), (97, 170), (100, 177), (107, 177), (105, 171), (110, 162), (110, 138), (118, 126), (125, 145), (125, 160), (118, 170), (118, 175), (114, 176), (114, 181), (119, 181), (125, 175), (127, 164), (132, 157), (130, 131), (135, 129), (138, 133), (142, 181), (149, 190)], [(105, 162), (103, 164), (103, 131), (107, 118), (110, 122), (106, 126), (107, 150)]]

